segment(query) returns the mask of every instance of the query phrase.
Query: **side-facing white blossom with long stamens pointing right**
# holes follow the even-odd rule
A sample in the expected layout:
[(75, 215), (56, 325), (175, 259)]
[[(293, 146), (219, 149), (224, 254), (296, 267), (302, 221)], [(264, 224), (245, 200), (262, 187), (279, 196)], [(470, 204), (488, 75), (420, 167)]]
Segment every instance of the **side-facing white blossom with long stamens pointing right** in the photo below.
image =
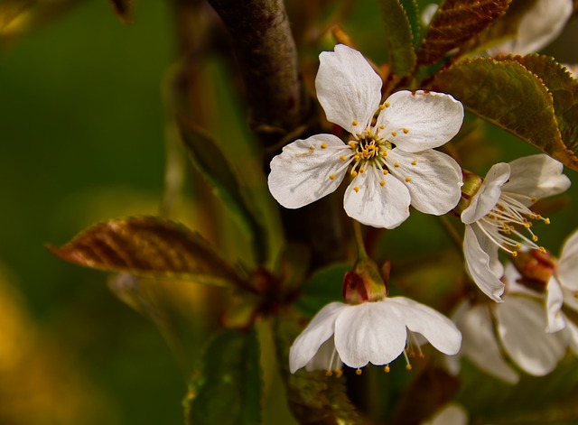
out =
[(522, 248), (544, 250), (536, 245), (537, 236), (531, 226), (532, 220), (549, 220), (528, 207), (570, 187), (562, 169), (560, 162), (545, 154), (500, 162), (489, 169), (470, 206), (461, 212), (461, 221), (466, 225), (466, 268), (492, 300), (500, 301), (504, 292), (504, 284), (499, 281), (504, 272), (498, 259), (499, 248), (514, 256)]

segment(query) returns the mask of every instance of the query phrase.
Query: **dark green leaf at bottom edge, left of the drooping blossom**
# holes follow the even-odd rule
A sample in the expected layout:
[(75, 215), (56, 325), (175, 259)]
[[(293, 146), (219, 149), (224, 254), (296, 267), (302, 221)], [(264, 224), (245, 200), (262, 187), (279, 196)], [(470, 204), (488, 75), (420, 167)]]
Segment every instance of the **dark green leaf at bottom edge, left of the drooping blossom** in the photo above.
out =
[(185, 397), (189, 425), (261, 423), (261, 355), (256, 329), (226, 329), (210, 341)]

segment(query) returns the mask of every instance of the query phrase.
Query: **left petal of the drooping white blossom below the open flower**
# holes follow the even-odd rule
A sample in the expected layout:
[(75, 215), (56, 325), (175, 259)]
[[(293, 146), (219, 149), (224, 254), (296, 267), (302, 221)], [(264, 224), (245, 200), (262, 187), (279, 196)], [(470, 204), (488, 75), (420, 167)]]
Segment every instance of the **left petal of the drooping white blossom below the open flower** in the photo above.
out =
[(349, 306), (342, 302), (331, 302), (315, 315), (307, 328), (297, 337), (289, 350), (289, 369), (294, 374), (307, 365), (319, 347), (333, 335), (335, 319), (340, 311)]

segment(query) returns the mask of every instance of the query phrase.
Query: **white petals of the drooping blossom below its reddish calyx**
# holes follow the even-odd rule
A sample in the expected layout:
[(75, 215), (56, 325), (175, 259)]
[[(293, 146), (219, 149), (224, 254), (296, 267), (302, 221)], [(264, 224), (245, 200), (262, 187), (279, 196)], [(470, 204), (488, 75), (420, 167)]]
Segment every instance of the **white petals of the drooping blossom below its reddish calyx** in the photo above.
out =
[(315, 315), (289, 352), (291, 373), (388, 365), (406, 348), (407, 329), (447, 355), (460, 349), (461, 334), (441, 313), (404, 297), (357, 305), (331, 302)]

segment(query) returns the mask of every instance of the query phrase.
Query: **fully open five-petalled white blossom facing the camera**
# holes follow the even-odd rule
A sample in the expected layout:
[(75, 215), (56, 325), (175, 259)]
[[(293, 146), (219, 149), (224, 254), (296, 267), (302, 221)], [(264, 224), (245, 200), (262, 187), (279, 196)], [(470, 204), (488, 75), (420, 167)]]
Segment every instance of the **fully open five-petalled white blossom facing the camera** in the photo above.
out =
[(271, 162), (274, 198), (285, 208), (301, 208), (333, 192), (349, 173), (345, 211), (368, 226), (399, 226), (410, 203), (433, 215), (455, 207), (460, 166), (432, 148), (460, 130), (461, 103), (440, 93), (399, 91), (380, 105), (381, 78), (359, 51), (338, 44), (320, 60), (317, 97), (327, 119), (350, 133), (350, 142), (316, 134), (286, 145)]

